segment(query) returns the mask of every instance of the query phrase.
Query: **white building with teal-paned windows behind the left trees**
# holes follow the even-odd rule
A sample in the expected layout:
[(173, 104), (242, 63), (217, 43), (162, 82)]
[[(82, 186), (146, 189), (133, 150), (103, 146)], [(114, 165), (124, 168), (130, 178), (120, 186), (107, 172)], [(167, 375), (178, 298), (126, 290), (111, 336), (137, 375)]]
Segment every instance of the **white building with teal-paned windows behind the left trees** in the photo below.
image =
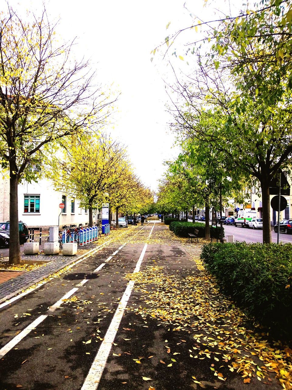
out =
[[(0, 182), (0, 222), (9, 220), (9, 179)], [(59, 204), (65, 207), (60, 209)], [(47, 179), (38, 183), (23, 182), (18, 185), (18, 220), (28, 227), (42, 227), (58, 225), (88, 225), (88, 210), (81, 209), (74, 196), (56, 191)], [(97, 215), (93, 215), (93, 221)]]

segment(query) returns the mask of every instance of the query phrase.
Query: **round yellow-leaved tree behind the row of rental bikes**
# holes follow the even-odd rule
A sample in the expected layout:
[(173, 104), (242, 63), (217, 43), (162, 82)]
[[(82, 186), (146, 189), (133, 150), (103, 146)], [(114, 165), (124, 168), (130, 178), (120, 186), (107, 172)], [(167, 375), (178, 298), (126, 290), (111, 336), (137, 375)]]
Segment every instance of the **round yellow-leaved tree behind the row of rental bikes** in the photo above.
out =
[(130, 163), (123, 147), (103, 134), (70, 137), (67, 145), (64, 158), (51, 164), (49, 177), (57, 190), (74, 194), (88, 209), (92, 226), (93, 209), (100, 209), (104, 193), (123, 181)]

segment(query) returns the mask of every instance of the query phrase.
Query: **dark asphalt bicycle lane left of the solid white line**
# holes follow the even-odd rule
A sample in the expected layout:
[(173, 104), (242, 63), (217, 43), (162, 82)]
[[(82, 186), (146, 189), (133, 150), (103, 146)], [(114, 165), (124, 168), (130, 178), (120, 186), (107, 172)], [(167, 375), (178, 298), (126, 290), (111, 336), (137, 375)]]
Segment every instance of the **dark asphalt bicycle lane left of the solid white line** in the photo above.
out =
[[(31, 324), (32, 320), (37, 320), (37, 316), (47, 316), (40, 324), (34, 326), (33, 323), (31, 327), (35, 329), (2, 358), (0, 376), (5, 381), (2, 381), (4, 387), (1, 388), (8, 390), (18, 384), (28, 389), (78, 388), (76, 381), (82, 381), (90, 368), (90, 351), (95, 351), (100, 344), (102, 333), (111, 322), (126, 288), (127, 280), (122, 276), (134, 269), (143, 245), (119, 248), (107, 248), (103, 254), (87, 259), (63, 278), (51, 281), (46, 289), (41, 289), (35, 296), (30, 294), (0, 314), (1, 330), (4, 333), (2, 345), (11, 340), (14, 332), (23, 330), (28, 322)], [(115, 253), (117, 250), (118, 253)], [(102, 268), (96, 268), (98, 264)], [(80, 276), (87, 279), (76, 280)], [(83, 284), (83, 280), (88, 282)], [(74, 290), (65, 303), (60, 301), (62, 307), (56, 308), (54, 312), (47, 310), (61, 298), (63, 292), (68, 292), (69, 287), (78, 290)], [(20, 317), (23, 313), (31, 316), (26, 314)], [(20, 328), (19, 325), (15, 326), (18, 321), (14, 319), (16, 314), (21, 318)], [(5, 327), (4, 323), (9, 322), (11, 325)]]

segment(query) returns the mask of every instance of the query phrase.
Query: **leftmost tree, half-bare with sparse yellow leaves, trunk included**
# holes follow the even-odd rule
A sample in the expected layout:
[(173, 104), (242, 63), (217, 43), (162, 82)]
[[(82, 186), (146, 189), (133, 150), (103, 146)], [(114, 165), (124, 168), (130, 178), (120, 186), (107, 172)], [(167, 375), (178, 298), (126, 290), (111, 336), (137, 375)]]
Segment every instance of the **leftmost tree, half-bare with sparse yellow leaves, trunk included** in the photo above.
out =
[(106, 94), (91, 87), (87, 62), (70, 59), (72, 43), (58, 46), (44, 9), (27, 21), (7, 6), (0, 22), (0, 156), (10, 177), (9, 262), (19, 263), (18, 183), (36, 179), (49, 150), (68, 135), (100, 123)]

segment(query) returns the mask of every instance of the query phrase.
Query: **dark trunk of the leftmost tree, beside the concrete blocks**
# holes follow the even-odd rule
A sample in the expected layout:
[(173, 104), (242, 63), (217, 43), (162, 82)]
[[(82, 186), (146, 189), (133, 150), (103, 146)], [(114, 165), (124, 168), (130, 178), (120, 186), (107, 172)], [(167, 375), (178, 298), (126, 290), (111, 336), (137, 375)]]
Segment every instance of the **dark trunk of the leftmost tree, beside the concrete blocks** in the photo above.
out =
[[(12, 164), (11, 164), (12, 165)], [(9, 264), (21, 262), (18, 227), (18, 177), (10, 165), (10, 204), (9, 204)]]

